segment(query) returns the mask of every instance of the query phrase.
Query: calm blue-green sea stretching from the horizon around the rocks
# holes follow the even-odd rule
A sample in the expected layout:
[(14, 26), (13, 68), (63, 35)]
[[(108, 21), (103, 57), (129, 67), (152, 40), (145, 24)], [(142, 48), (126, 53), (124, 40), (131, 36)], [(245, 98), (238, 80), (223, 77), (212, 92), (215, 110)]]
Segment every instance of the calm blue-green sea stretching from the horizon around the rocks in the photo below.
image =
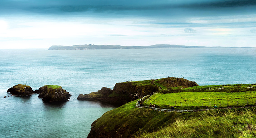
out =
[[(76, 100), (79, 94), (168, 76), (199, 85), (256, 83), (256, 48), (0, 49), (0, 137), (87, 137), (93, 121), (114, 107)], [(58, 105), (38, 95), (3, 98), (16, 84), (59, 85), (72, 96)]]

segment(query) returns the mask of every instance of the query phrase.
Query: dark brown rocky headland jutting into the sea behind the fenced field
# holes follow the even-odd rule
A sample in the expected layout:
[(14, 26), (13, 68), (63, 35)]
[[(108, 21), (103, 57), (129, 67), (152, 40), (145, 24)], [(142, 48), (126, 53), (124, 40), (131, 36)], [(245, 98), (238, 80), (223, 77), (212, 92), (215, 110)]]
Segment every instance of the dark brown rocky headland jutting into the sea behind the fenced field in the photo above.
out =
[(198, 86), (194, 81), (188, 81), (183, 78), (168, 77), (158, 80), (146, 80), (146, 81), (127, 81), (116, 83), (113, 90), (103, 87), (97, 92), (90, 94), (80, 94), (78, 100), (98, 100), (111, 104), (123, 105), (132, 100), (142, 98), (145, 95), (150, 95), (159, 90), (168, 87), (183, 88)]

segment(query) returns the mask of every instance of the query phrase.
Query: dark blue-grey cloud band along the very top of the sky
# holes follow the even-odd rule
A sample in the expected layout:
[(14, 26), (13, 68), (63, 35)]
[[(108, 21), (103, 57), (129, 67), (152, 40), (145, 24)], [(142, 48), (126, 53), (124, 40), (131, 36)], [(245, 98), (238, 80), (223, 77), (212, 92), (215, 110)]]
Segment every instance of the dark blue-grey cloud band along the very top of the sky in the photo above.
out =
[(214, 15), (244, 7), (247, 14), (255, 12), (256, 0), (0, 0), (0, 14)]

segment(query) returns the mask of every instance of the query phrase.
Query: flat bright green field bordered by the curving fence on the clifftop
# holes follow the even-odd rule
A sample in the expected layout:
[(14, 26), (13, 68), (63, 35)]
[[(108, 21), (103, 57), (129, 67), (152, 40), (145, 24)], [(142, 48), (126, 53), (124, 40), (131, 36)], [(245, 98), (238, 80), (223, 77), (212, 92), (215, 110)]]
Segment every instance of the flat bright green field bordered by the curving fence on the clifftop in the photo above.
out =
[[(146, 100), (143, 105), (149, 103), (156, 105), (158, 108), (170, 109), (175, 106), (176, 109), (195, 109), (195, 106), (203, 109), (205, 106), (211, 107), (216, 104), (218, 108), (256, 105), (256, 92), (180, 92), (153, 95), (150, 100)], [(238, 102), (238, 105), (237, 105)]]

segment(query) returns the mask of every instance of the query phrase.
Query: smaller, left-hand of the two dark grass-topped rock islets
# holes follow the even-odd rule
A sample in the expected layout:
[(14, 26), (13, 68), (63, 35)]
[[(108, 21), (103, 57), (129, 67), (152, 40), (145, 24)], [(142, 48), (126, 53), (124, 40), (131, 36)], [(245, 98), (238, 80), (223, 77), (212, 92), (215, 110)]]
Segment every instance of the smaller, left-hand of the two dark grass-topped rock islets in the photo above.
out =
[(10, 89), (7, 90), (7, 93), (11, 93), (11, 95), (16, 96), (31, 96), (34, 93), (34, 90), (30, 86), (17, 84)]

